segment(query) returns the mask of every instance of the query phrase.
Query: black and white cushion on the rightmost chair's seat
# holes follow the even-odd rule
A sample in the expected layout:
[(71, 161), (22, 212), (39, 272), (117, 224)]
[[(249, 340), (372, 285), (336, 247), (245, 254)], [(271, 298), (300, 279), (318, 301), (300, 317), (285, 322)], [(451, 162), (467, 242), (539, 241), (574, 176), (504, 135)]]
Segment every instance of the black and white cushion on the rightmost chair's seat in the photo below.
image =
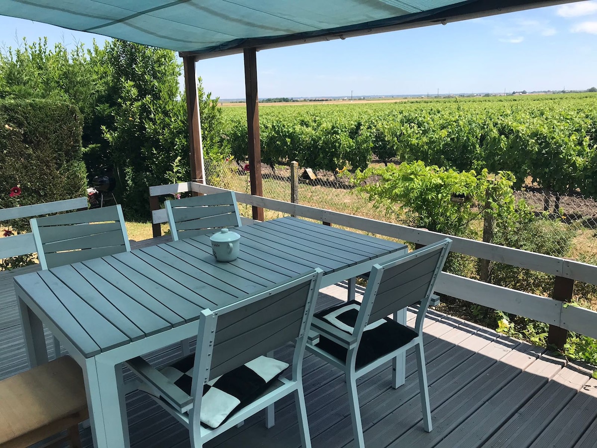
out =
[[(317, 312), (314, 317), (352, 335), (361, 303), (356, 300), (333, 306)], [(356, 369), (395, 351), (417, 337), (417, 332), (398, 322), (383, 318), (365, 327), (361, 342), (356, 352)], [(324, 335), (319, 336), (316, 346), (339, 360), (346, 360), (347, 349)]]

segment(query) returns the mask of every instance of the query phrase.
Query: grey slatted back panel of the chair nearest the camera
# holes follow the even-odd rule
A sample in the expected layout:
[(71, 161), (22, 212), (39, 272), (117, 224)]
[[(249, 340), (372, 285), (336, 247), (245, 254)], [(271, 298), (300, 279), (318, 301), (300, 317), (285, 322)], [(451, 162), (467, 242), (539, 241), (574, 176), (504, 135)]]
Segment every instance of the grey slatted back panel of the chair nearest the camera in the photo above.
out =
[(217, 314), (210, 378), (296, 339), (310, 283), (301, 283), (225, 314)]

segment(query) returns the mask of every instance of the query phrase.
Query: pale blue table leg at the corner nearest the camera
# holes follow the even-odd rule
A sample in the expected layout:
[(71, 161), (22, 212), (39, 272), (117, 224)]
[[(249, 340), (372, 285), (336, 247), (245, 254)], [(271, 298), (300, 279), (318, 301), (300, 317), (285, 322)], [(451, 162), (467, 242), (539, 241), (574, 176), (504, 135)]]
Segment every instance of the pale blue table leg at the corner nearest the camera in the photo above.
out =
[(85, 388), (94, 447), (130, 447), (122, 366), (90, 358), (85, 366)]

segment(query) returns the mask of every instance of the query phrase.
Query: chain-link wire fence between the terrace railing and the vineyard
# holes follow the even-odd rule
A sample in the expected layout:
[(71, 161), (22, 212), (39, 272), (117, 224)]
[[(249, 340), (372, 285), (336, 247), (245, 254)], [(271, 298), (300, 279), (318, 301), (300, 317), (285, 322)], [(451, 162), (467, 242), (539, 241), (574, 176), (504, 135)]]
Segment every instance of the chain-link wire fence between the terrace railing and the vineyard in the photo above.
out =
[[(216, 164), (206, 161), (205, 171), (209, 185), (247, 194), (251, 192), (244, 164), (232, 161)], [(355, 191), (346, 176), (338, 176), (329, 171), (315, 171), (310, 176), (304, 168), (299, 168), (298, 175), (299, 204), (408, 225), (400, 217), (386, 216), (383, 211), (375, 208), (367, 197)], [(313, 175), (315, 178), (311, 179)], [(261, 177), (264, 197), (291, 201), (290, 167), (278, 165), (272, 170), (263, 165)], [(522, 241), (522, 246), (526, 247), (520, 248), (597, 264), (597, 201), (583, 195), (546, 196), (533, 189), (517, 191), (516, 197), (525, 200), (540, 217), (538, 221), (542, 223), (541, 231), (533, 231), (537, 239), (546, 240), (536, 244)], [(248, 216), (251, 208), (241, 204), (241, 213)], [(279, 215), (279, 212), (266, 210), (268, 219)], [(482, 220), (480, 221), (482, 226)]]

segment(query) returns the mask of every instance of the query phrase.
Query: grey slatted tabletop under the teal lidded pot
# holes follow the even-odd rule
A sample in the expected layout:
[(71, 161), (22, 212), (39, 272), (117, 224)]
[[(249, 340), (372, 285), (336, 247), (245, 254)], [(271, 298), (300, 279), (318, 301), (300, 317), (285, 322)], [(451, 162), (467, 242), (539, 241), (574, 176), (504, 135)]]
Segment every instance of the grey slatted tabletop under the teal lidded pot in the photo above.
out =
[[(219, 263), (208, 235), (48, 271), (16, 283), (85, 357), (198, 319), (319, 267), (328, 276), (404, 244), (292, 217), (242, 226), (241, 253)], [(368, 270), (369, 268), (365, 269)], [(328, 282), (329, 283), (329, 282)], [(42, 320), (44, 320), (42, 318)]]

